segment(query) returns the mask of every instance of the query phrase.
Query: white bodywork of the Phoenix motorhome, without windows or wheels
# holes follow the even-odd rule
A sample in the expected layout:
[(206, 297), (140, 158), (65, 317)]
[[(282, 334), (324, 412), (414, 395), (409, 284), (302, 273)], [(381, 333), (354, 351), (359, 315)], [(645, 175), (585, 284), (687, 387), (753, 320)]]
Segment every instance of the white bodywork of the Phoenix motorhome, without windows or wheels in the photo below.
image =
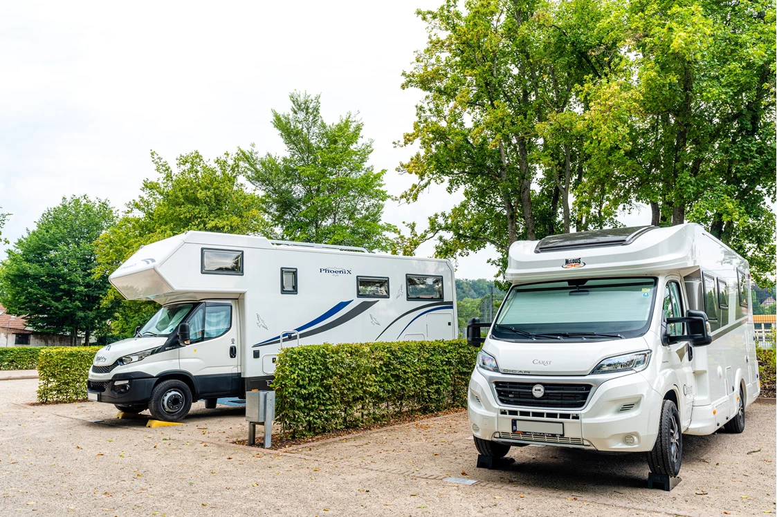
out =
[[(242, 272), (205, 272), (204, 249), (242, 252)], [(281, 291), (281, 269), (294, 270), (293, 293)], [(407, 275), (439, 277), (441, 297), (408, 297)], [(388, 279), (388, 297), (360, 296), (360, 276)], [(240, 394), (246, 387), (267, 389), (281, 346), (458, 336), (454, 270), (447, 260), (191, 231), (141, 248), (110, 276), (110, 282), (128, 299), (154, 300), (162, 306), (227, 304), (232, 307), (232, 320), (224, 334), (199, 344), (193, 335), (191, 345), (176, 348), (168, 342), (169, 350), (137, 363), (115, 366), (106, 373), (92, 369), (93, 383), (113, 380), (118, 373), (137, 377), (177, 372), (193, 379), (196, 396), (226, 393), (225, 389), (205, 390), (200, 383), (221, 383), (221, 387), (232, 383), (229, 391)], [(191, 317), (193, 312), (186, 319)], [(164, 345), (160, 339), (113, 343), (98, 352), (102, 359), (95, 366), (109, 366), (129, 352)], [(241, 377), (259, 384), (249, 386)]]

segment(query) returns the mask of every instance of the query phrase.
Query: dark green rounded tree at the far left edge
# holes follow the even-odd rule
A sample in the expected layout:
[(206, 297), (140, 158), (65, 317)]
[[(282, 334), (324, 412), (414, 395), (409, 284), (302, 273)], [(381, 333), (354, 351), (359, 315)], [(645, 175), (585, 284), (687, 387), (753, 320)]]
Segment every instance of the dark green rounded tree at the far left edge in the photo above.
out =
[(96, 278), (95, 240), (114, 220), (103, 200), (87, 196), (62, 198), (40, 216), (9, 250), (0, 268), (0, 300), (11, 314), (26, 317), (37, 331), (71, 335), (88, 343), (104, 328), (110, 306), (102, 304), (110, 284)]

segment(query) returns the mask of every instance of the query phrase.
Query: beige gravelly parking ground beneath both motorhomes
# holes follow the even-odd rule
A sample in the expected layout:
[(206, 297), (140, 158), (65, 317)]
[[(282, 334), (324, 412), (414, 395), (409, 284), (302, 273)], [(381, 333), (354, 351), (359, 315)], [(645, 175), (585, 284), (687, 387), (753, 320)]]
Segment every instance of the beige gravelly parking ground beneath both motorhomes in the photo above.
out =
[(743, 435), (685, 437), (683, 481), (667, 493), (643, 488), (637, 455), (529, 446), (507, 470), (476, 469), (464, 414), (268, 453), (233, 443), (247, 435), (242, 408), (198, 403), (184, 425), (147, 429), (106, 404), (26, 405), (36, 387), (0, 383), (0, 515), (777, 512), (772, 405), (748, 408)]

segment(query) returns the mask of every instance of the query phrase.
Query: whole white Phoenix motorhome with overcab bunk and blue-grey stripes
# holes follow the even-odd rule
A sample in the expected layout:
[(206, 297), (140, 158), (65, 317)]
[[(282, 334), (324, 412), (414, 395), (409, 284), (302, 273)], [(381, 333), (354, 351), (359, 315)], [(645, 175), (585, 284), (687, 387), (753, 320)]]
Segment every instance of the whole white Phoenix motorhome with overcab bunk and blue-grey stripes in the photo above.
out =
[(458, 335), (447, 260), (189, 231), (142, 247), (110, 283), (161, 307), (97, 352), (89, 399), (166, 421), (269, 390), (285, 346)]

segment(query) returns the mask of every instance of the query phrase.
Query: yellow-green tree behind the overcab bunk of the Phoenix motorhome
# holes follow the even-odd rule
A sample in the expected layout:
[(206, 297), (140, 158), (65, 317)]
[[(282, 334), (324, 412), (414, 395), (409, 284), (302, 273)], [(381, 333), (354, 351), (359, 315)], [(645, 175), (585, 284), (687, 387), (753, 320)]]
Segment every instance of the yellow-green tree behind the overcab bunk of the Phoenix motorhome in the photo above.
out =
[[(265, 234), (260, 197), (239, 179), (236, 157), (225, 153), (207, 161), (197, 151), (182, 154), (176, 170), (152, 151), (159, 179), (146, 179), (141, 195), (127, 203), (127, 210), (96, 243), (97, 278), (107, 278), (122, 262), (147, 245), (187, 230), (228, 234)], [(105, 303), (122, 300), (111, 289)], [(111, 321), (117, 335), (131, 335), (159, 306), (153, 302), (122, 300)]]

